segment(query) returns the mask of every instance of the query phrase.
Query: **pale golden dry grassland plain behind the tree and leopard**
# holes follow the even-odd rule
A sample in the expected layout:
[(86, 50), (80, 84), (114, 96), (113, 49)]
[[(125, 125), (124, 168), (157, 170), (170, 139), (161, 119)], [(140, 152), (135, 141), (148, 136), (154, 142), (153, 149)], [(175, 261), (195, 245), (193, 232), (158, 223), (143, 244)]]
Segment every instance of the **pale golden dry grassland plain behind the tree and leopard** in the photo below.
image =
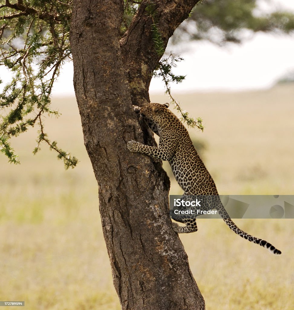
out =
[[(204, 133), (190, 132), (206, 145), (205, 165), (220, 194), (293, 194), (293, 85), (176, 97), (204, 119)], [(14, 141), (20, 166), (0, 157), (0, 300), (24, 300), (30, 310), (119, 309), (76, 103), (59, 98), (54, 106), (62, 116), (48, 118), (45, 128), (80, 163), (65, 171), (45, 145), (33, 156), (34, 130)], [(172, 182), (171, 194), (178, 193)], [(181, 240), (206, 309), (293, 310), (294, 220), (236, 224), (282, 255), (241, 239), (222, 220), (199, 219), (198, 232)]]

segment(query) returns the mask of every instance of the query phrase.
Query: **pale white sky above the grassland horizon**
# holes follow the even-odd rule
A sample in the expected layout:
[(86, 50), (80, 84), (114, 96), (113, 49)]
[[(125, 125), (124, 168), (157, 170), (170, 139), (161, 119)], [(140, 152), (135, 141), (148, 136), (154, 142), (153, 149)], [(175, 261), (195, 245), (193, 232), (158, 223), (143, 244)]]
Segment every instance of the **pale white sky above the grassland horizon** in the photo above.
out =
[[(294, 11), (294, 0), (263, 0), (259, 3), (268, 11), (273, 7)], [(175, 92), (268, 88), (285, 74), (294, 73), (294, 35), (257, 33), (241, 45), (230, 43), (226, 47), (217, 47), (199, 41), (182, 43), (169, 49), (175, 54), (179, 52), (184, 58), (174, 73), (186, 75), (186, 79), (171, 86)], [(0, 76), (5, 82), (3, 70)], [(72, 63), (66, 63), (55, 82), (53, 95), (74, 96), (72, 80)], [(164, 92), (160, 79), (153, 78), (150, 92)]]

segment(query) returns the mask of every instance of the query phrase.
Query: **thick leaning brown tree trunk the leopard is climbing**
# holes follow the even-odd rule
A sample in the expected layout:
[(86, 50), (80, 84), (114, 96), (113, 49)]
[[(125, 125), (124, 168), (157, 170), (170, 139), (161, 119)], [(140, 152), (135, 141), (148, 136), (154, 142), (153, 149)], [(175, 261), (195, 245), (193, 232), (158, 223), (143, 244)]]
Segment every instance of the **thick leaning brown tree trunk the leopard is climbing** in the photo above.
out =
[[(148, 16), (141, 14), (146, 22)], [(143, 142), (132, 101), (148, 101), (151, 76), (142, 73), (140, 64), (153, 70), (160, 57), (148, 62), (142, 51), (152, 45), (150, 28), (146, 33), (138, 30), (146, 45), (137, 42), (136, 51), (127, 55), (131, 44), (135, 46), (134, 39), (129, 45), (125, 40), (130, 33), (119, 42), (122, 15), (123, 1), (75, 0), (71, 22), (76, 99), (99, 186), (115, 289), (122, 309), (204, 309), (183, 245), (171, 228), (169, 180), (161, 163), (126, 148), (128, 140)], [(136, 18), (140, 26), (141, 19)]]

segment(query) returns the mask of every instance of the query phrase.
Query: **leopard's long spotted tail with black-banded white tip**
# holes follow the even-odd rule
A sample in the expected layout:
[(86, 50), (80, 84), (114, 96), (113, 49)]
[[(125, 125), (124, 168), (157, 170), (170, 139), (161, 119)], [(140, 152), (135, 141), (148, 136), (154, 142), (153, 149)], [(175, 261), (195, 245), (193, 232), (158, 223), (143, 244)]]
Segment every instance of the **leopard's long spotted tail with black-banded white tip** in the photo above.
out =
[(226, 224), (229, 226), (229, 228), (235, 232), (237, 235), (239, 235), (240, 237), (249, 240), (250, 242), (259, 244), (260, 246), (263, 246), (264, 248), (268, 249), (271, 253), (279, 255), (282, 252), (278, 249), (276, 249), (272, 244), (270, 244), (269, 242), (259, 239), (257, 237), (253, 237), (251, 235), (249, 235), (247, 232), (244, 232), (242, 229), (240, 229), (230, 218), (230, 216), (228, 215), (227, 211), (225, 210), (225, 208), (223, 207), (223, 205), (216, 207), (216, 209), (218, 210), (219, 215), (223, 218), (223, 220), (226, 222)]

